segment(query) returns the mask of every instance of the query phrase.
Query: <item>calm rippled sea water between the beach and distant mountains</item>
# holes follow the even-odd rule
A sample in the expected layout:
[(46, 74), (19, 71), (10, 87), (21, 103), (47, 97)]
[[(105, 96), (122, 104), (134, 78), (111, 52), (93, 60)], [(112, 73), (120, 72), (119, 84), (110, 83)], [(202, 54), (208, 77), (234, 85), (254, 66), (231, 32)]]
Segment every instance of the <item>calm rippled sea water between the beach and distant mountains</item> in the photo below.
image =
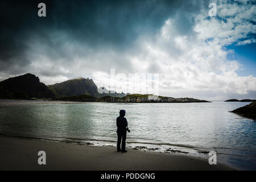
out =
[(256, 169), (256, 123), (229, 111), (249, 102), (40, 104), (0, 107), (0, 134), (115, 144), (126, 110), (128, 146), (217, 151), (217, 162)]

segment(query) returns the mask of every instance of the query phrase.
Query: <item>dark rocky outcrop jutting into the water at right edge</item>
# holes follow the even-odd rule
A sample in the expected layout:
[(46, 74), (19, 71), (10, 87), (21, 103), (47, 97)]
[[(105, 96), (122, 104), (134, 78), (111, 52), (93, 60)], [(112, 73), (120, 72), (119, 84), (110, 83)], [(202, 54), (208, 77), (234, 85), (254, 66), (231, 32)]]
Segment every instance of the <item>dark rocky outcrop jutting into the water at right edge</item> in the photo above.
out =
[(256, 120), (256, 102), (254, 101), (249, 105), (239, 107), (238, 109), (233, 110), (232, 113)]

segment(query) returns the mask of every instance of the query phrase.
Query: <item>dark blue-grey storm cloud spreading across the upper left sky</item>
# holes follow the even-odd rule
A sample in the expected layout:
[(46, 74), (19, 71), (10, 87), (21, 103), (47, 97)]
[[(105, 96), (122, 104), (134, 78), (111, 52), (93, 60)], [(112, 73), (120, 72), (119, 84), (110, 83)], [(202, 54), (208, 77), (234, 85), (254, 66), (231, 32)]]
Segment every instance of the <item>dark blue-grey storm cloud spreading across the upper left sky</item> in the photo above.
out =
[[(46, 18), (37, 15), (40, 2), (46, 3)], [(187, 34), (192, 23), (185, 11), (200, 6), (193, 1), (154, 0), (1, 1), (0, 71), (12, 75), (26, 72), (34, 61), (32, 51), (52, 61), (71, 61), (74, 54), (89, 56), (104, 49), (125, 52), (133, 48), (139, 35), (153, 36), (174, 15), (183, 19), (176, 22), (180, 34)], [(122, 64), (129, 67), (128, 61)]]

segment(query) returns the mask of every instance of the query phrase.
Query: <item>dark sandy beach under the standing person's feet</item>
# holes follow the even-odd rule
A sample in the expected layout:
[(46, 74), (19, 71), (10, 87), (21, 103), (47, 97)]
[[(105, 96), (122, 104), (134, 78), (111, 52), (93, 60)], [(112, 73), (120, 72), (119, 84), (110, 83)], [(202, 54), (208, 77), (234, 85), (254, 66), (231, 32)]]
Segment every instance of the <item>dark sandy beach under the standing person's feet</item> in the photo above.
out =
[[(115, 147), (0, 137), (1, 170), (232, 170), (223, 164), (180, 154), (155, 154)], [(46, 165), (38, 152), (46, 152)]]

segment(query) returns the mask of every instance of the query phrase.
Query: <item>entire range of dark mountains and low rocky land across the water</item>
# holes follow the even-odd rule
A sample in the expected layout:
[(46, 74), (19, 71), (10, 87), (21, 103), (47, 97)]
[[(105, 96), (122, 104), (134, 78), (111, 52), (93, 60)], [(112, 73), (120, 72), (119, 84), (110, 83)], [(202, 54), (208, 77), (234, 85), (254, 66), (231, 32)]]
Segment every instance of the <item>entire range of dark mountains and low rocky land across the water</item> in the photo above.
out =
[[(102, 92), (103, 91), (103, 92)], [(76, 78), (53, 85), (44, 85), (31, 73), (8, 78), (0, 82), (0, 98), (30, 99), (55, 98), (65, 101), (98, 102), (208, 102), (194, 98), (173, 98), (152, 94), (125, 94), (110, 92), (106, 88), (97, 88), (92, 79)]]

